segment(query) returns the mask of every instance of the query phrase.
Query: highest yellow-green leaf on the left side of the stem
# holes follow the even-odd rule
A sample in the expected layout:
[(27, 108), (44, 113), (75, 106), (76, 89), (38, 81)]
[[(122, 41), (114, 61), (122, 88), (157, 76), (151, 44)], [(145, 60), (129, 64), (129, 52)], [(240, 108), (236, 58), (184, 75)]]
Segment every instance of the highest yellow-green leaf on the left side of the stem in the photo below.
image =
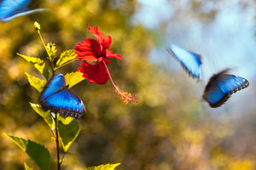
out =
[(38, 71), (40, 71), (46, 79), (48, 79), (49, 68), (47, 65), (45, 65), (44, 60), (39, 59), (37, 57), (29, 57), (29, 56), (22, 55), (22, 54), (18, 54), (18, 55), (20, 55), (20, 57), (22, 57), (23, 59), (26, 59), (26, 61), (32, 63), (32, 65), (34, 65), (34, 67), (36, 69), (38, 69)]

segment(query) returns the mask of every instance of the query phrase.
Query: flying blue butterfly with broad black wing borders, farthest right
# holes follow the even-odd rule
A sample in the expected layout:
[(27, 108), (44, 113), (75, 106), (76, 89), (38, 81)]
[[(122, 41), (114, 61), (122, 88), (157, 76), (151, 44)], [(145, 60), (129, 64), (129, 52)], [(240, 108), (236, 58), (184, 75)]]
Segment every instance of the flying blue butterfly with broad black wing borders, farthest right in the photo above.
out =
[(249, 86), (249, 82), (245, 78), (230, 75), (228, 71), (230, 69), (214, 74), (207, 83), (202, 97), (213, 108), (223, 105), (231, 94)]

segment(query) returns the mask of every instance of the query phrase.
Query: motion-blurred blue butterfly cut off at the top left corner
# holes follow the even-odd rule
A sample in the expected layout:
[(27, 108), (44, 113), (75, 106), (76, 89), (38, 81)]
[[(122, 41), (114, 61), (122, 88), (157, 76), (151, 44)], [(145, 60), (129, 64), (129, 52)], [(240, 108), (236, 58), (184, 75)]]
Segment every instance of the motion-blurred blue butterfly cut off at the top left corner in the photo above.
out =
[(0, 3), (0, 20), (5, 22), (25, 14), (45, 10), (44, 8), (27, 10), (29, 3), (30, 0), (2, 0)]

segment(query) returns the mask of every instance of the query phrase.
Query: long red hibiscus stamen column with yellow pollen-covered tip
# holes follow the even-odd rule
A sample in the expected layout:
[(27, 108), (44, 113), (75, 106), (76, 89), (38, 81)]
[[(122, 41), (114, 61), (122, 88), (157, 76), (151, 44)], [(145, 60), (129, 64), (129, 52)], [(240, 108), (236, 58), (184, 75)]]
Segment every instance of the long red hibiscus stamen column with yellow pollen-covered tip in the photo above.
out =
[[(106, 65), (105, 61), (102, 59), (102, 63), (105, 65), (106, 67), (106, 70), (108, 71), (108, 66)], [(119, 99), (121, 99), (121, 101), (124, 103), (124, 104), (128, 104), (130, 101), (133, 101), (135, 103), (137, 103), (137, 97), (136, 97), (136, 94), (130, 94), (130, 93), (127, 93), (123, 90), (120, 90), (119, 87), (117, 87), (114, 83), (113, 83), (113, 79), (110, 75), (110, 72), (108, 71), (108, 76), (109, 76), (109, 79), (110, 81), (112, 82), (113, 84), (113, 88), (115, 89), (115, 92), (119, 95)]]

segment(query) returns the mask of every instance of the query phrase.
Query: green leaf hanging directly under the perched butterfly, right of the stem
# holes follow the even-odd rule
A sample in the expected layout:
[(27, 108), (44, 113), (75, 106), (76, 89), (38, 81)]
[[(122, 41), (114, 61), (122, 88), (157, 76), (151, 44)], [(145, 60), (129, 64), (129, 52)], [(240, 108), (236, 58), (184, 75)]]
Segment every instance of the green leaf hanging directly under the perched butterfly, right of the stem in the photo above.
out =
[(79, 122), (75, 119), (73, 119), (73, 121), (69, 122), (68, 124), (64, 124), (63, 122), (59, 121), (58, 130), (63, 150), (67, 152), (70, 145), (79, 135)]

